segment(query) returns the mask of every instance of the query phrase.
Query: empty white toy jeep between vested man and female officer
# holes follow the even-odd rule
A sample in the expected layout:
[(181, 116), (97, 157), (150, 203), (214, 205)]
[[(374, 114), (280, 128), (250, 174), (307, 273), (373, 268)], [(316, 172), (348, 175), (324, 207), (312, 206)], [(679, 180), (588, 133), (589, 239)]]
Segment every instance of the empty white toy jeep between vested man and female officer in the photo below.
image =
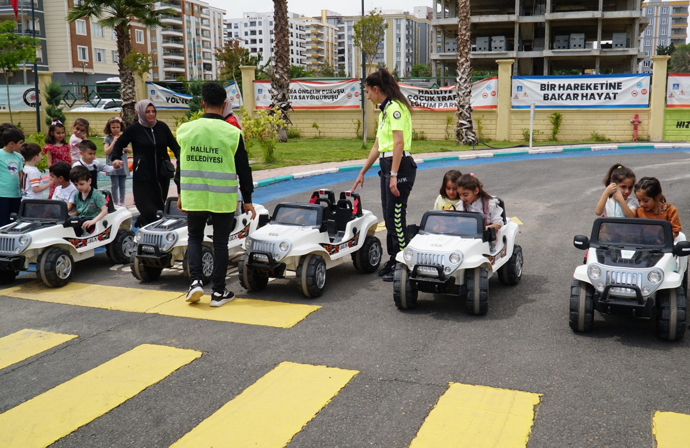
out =
[(348, 259), (357, 271), (377, 269), (382, 249), (374, 236), (376, 227), (376, 217), (362, 210), (359, 195), (351, 191), (340, 193), (337, 202), (333, 191), (319, 190), (308, 204), (278, 204), (268, 225), (244, 242), (239, 283), (260, 291), (269, 278), (295, 271), (297, 289), (308, 298), (319, 297), (326, 286), (326, 269)]

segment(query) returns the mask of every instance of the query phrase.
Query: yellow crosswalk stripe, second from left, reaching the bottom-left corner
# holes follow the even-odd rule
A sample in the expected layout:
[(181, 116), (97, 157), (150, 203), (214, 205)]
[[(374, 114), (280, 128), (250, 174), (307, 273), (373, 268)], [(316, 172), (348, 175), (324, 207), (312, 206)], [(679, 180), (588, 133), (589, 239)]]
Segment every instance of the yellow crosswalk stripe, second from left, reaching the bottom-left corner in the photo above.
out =
[(0, 414), (1, 447), (45, 447), (201, 356), (144, 344)]

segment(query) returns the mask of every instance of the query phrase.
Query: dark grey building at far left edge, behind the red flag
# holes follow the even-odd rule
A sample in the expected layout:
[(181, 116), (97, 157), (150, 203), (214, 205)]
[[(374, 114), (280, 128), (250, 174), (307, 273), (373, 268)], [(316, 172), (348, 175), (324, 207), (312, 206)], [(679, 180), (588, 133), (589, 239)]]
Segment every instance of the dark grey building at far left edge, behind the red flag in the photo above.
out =
[[(34, 36), (39, 39), (37, 49), (37, 69), (39, 71), (48, 70), (48, 52), (46, 48), (46, 21), (43, 15), (43, 1), (34, 0), (34, 20), (31, 16), (31, 0), (19, 0), (19, 18), (15, 19), (14, 10), (10, 0), (0, 0), (0, 21), (15, 21), (17, 26), (14, 32), (19, 35)], [(0, 73), (0, 79), (7, 82)], [(21, 64), (19, 70), (8, 73), (10, 84), (33, 84), (34, 64)]]

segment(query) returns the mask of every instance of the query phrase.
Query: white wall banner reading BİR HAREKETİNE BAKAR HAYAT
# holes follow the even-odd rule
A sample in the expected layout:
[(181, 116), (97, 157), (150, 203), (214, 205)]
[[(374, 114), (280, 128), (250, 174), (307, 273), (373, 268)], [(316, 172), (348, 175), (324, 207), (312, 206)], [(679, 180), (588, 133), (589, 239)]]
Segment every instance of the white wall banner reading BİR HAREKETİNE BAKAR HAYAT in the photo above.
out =
[(649, 73), (635, 75), (514, 76), (513, 108), (649, 107)]

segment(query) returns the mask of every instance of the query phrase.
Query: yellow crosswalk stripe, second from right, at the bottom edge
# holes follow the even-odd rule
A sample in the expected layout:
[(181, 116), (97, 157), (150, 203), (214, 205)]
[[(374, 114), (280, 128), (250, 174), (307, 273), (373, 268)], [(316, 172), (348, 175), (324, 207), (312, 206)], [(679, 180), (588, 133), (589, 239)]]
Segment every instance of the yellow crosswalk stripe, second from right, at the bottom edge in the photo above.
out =
[(410, 448), (525, 447), (540, 396), (451, 382)]

